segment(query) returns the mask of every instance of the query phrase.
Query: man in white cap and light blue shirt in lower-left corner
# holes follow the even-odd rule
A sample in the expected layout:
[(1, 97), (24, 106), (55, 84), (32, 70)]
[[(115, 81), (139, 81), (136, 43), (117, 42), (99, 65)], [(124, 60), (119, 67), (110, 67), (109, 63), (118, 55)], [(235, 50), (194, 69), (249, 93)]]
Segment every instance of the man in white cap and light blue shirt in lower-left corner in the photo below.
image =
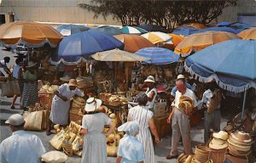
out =
[(24, 131), (23, 117), (19, 114), (11, 115), (6, 124), (9, 124), (12, 136), (0, 144), (1, 163), (41, 162), (40, 157), (46, 150), (38, 136)]

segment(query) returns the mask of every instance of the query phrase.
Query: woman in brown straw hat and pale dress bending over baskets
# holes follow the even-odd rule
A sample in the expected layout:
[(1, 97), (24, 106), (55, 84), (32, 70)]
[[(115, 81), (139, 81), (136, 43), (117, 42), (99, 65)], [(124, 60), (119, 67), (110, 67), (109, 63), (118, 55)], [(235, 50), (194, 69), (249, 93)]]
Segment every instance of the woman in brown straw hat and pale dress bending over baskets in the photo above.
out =
[(49, 114), (49, 126), (46, 135), (50, 135), (52, 123), (66, 126), (68, 123), (68, 110), (70, 107), (70, 98), (73, 96), (84, 97), (84, 93), (79, 90), (77, 80), (70, 79), (68, 83), (62, 84), (52, 100), (51, 110)]

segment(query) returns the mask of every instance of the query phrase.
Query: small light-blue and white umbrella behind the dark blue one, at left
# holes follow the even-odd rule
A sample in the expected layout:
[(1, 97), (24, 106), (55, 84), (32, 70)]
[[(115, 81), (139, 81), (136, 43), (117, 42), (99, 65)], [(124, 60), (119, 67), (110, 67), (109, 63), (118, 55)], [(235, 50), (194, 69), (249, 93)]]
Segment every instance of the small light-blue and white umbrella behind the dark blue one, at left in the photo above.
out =
[(88, 30), (90, 30), (90, 28), (84, 25), (61, 25), (57, 28), (57, 31), (59, 31), (61, 35), (65, 37), (75, 33), (79, 33), (81, 31), (88, 31)]

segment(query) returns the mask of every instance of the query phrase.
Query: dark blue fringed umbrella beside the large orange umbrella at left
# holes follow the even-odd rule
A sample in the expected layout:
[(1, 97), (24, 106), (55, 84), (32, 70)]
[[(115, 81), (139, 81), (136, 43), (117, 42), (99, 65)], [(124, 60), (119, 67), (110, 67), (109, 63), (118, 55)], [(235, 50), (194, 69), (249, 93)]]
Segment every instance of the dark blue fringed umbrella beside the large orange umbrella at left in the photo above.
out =
[(124, 48), (124, 44), (114, 37), (97, 31), (83, 31), (63, 38), (60, 42), (57, 56), (53, 58), (76, 62), (80, 57), (87, 57), (96, 52), (113, 48)]

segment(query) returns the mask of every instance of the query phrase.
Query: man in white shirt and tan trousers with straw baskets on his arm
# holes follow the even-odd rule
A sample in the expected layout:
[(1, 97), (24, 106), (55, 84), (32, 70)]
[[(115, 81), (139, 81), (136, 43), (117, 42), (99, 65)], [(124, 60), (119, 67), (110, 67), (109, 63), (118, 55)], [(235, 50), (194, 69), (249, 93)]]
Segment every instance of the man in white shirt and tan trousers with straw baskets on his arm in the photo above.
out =
[[(192, 154), (189, 115), (186, 115), (184, 111), (179, 108), (179, 99), (181, 96), (192, 98), (194, 101), (193, 112), (195, 112), (195, 110), (197, 110), (196, 97), (195, 93), (186, 87), (184, 79), (177, 79), (176, 86), (177, 92), (175, 93), (174, 108), (167, 119), (167, 123), (170, 123), (172, 120), (172, 150), (170, 155), (166, 156), (167, 160), (177, 157), (177, 144), (181, 136), (183, 139), (184, 153), (186, 155)], [(193, 114), (193, 112), (191, 114)]]

